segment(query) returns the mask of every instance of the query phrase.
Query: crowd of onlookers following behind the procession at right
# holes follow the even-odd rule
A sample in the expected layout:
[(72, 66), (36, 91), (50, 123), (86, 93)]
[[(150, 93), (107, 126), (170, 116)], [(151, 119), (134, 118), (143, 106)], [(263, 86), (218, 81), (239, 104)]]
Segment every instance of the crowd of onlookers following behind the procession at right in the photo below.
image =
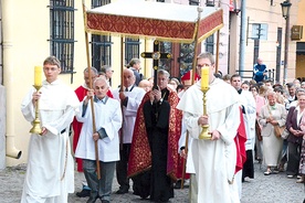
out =
[(298, 79), (285, 86), (269, 79), (242, 84), (256, 101), (255, 159), (266, 165), (265, 175), (285, 171), (297, 183), (305, 182), (304, 85)]

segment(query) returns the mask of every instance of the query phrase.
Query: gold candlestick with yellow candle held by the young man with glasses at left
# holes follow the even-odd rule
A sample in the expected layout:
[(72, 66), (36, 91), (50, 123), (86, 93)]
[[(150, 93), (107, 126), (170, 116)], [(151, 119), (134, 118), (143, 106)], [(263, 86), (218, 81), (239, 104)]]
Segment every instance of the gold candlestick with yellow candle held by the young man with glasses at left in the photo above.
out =
[[(35, 66), (34, 71), (34, 88), (36, 92), (42, 87), (42, 67)], [(33, 127), (30, 130), (31, 133), (41, 135), (42, 129), (40, 127), (40, 119), (39, 119), (39, 100), (35, 103), (35, 119), (33, 121)]]

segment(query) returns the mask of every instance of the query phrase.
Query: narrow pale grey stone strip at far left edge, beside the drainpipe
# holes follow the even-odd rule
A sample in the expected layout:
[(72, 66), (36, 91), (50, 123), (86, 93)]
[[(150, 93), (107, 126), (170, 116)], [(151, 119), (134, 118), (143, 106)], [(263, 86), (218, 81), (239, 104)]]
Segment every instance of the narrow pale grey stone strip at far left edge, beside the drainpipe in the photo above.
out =
[(0, 85), (0, 170), (6, 168), (6, 89)]

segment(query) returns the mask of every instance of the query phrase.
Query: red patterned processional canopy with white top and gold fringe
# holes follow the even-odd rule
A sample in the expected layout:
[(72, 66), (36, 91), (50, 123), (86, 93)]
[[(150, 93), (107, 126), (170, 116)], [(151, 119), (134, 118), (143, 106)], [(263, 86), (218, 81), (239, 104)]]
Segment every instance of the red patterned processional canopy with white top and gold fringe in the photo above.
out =
[[(136, 12), (132, 12), (137, 8)], [(198, 11), (200, 14), (199, 25)], [(198, 42), (223, 26), (223, 11), (212, 7), (119, 0), (85, 12), (85, 30), (94, 34), (115, 34), (171, 41)]]

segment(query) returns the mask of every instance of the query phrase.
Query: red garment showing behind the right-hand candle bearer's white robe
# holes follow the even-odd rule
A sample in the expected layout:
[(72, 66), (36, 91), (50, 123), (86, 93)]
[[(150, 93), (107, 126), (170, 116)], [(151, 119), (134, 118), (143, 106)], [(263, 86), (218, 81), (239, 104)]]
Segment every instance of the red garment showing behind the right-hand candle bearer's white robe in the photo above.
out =
[(242, 170), (243, 163), (246, 160), (246, 153), (245, 153), (245, 141), (246, 141), (246, 133), (245, 133), (245, 127), (244, 127), (244, 120), (242, 110), (240, 108), (240, 118), (241, 122), (238, 129), (238, 133), (234, 138), (235, 146), (236, 146), (236, 167), (235, 167), (235, 173)]

